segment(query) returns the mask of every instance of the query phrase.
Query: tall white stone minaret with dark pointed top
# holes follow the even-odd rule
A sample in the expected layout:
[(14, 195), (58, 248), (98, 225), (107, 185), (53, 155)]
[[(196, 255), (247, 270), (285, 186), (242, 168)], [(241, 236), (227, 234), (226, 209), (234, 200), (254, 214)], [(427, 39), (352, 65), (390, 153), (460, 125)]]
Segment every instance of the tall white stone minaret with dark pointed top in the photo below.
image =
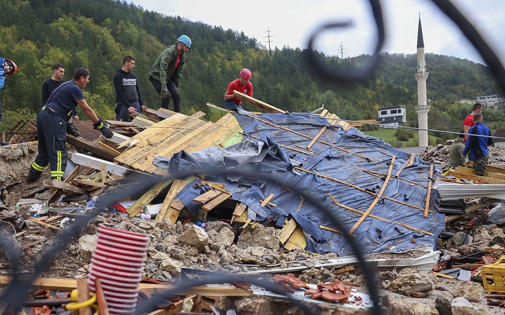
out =
[[(428, 146), (428, 112), (430, 105), (428, 105), (426, 98), (426, 79), (428, 79), (428, 72), (426, 71), (426, 61), (424, 60), (424, 40), (423, 29), (421, 28), (421, 14), (419, 14), (419, 27), (417, 31), (417, 73), (414, 74), (417, 80), (417, 106), (416, 112), (418, 117), (419, 127), (419, 146)], [(424, 130), (421, 130), (424, 129)]]

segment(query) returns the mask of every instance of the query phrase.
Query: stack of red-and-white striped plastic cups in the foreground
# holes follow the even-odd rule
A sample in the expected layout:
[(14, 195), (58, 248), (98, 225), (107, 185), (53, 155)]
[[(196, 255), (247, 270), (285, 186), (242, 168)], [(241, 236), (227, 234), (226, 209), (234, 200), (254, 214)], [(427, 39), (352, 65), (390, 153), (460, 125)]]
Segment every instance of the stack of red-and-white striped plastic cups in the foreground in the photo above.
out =
[(100, 279), (111, 314), (135, 310), (148, 241), (146, 234), (98, 225), (87, 282), (94, 293), (95, 280)]

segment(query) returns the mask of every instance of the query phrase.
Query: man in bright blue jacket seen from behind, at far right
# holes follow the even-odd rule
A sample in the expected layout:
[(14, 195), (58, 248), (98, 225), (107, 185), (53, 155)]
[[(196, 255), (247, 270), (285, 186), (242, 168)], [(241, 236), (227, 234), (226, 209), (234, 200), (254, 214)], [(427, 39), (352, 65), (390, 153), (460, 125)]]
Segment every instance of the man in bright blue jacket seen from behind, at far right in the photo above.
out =
[[(470, 160), (474, 161), (475, 174), (479, 176), (484, 176), (486, 173), (486, 163), (487, 163), (487, 146), (493, 144), (493, 139), (488, 137), (479, 136), (491, 136), (489, 128), (482, 123), (482, 114), (474, 114), (474, 125), (468, 131), (470, 136), (468, 136), (467, 142), (465, 144), (465, 149), (463, 150), (463, 155), (470, 152)], [(475, 136), (473, 136), (475, 135)]]

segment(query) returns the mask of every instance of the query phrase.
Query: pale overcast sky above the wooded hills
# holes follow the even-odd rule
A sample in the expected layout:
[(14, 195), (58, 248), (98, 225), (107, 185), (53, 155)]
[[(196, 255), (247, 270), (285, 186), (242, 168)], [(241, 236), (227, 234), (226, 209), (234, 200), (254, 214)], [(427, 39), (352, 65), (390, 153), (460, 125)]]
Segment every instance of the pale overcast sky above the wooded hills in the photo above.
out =
[[(376, 28), (366, 0), (128, 0), (149, 11), (181, 16), (224, 29), (243, 31), (268, 48), (307, 47), (312, 32), (325, 22), (352, 22), (345, 31), (325, 32), (316, 48), (343, 57), (371, 53)], [(505, 1), (452, 0), (480, 31), (498, 56), (505, 61)], [(426, 52), (467, 58), (481, 62), (477, 50), (463, 33), (430, 0), (383, 0), (386, 43), (383, 51), (415, 53), (419, 14)], [(267, 32), (270, 30), (270, 32)], [(191, 37), (191, 34), (187, 34)], [(194, 45), (198, 43), (194, 42)], [(340, 48), (343, 47), (343, 49)]]

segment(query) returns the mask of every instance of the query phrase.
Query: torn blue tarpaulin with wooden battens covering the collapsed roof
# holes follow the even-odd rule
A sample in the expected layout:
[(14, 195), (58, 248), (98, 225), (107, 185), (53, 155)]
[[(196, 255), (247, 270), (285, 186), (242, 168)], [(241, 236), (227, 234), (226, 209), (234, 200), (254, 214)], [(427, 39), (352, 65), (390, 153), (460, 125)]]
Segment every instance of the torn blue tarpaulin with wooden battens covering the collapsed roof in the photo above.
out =
[[(424, 217), (429, 180), (441, 175), (438, 166), (430, 178), (431, 164), (355, 128), (344, 131), (315, 114), (246, 113), (235, 117), (245, 133), (244, 141), (224, 149), (181, 151), (171, 159), (157, 157), (154, 163), (169, 172), (212, 165), (270, 174), (323, 201), (349, 229), (369, 210), (352, 233), (365, 253), (438, 247), (436, 237), (445, 228), (445, 216), (433, 211), (436, 190), (430, 190), (430, 211)], [(233, 200), (247, 205), (247, 217), (253, 221), (270, 219), (281, 227), (286, 219), (294, 218), (307, 236), (308, 250), (352, 255), (342, 234), (332, 231), (336, 227), (327, 215), (303, 203), (287, 187), (250, 175), (207, 175), (206, 180), (224, 183)], [(201, 204), (193, 199), (203, 189), (190, 183), (176, 199), (197, 211)], [(275, 206), (261, 207), (259, 201), (270, 194)]]

